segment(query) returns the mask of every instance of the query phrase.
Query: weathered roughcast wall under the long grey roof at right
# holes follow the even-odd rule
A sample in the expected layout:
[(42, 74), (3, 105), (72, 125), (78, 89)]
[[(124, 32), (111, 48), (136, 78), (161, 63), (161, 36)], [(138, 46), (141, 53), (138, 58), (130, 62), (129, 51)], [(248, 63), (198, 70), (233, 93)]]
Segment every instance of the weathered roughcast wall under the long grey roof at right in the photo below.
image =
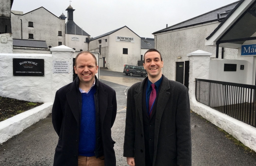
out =
[[(198, 49), (212, 53), (211, 57), (215, 57), (216, 47), (206, 46), (205, 38), (207, 38), (219, 24), (220, 23), (216, 21), (200, 26), (155, 34), (155, 49), (157, 49), (163, 57), (163, 74), (168, 79), (175, 80), (175, 62), (188, 61), (186, 55)], [(237, 49), (225, 48), (224, 50), (224, 58), (237, 58)], [(177, 57), (181, 57), (181, 59), (177, 59)], [(219, 57), (221, 58), (221, 47), (219, 48)]]

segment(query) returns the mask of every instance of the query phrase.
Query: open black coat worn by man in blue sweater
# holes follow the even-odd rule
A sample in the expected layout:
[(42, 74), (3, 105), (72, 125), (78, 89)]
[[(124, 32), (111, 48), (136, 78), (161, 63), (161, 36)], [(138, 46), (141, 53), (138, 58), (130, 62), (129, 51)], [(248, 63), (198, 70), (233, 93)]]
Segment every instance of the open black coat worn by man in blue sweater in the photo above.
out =
[[(117, 113), (116, 93), (95, 77), (96, 93), (96, 157), (105, 156), (105, 166), (115, 166), (114, 141), (111, 127)], [(54, 166), (78, 165), (81, 92), (79, 78), (56, 92), (52, 106), (52, 124), (59, 136), (55, 149)]]

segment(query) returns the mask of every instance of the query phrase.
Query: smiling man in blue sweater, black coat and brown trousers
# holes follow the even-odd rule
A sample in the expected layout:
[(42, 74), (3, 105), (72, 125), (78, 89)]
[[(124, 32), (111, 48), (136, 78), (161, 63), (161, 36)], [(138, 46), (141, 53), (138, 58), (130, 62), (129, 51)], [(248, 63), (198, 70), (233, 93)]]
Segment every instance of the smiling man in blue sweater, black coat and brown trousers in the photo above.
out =
[(116, 93), (95, 77), (97, 59), (89, 51), (77, 54), (74, 69), (78, 77), (56, 92), (52, 108), (59, 136), (53, 165), (115, 166)]

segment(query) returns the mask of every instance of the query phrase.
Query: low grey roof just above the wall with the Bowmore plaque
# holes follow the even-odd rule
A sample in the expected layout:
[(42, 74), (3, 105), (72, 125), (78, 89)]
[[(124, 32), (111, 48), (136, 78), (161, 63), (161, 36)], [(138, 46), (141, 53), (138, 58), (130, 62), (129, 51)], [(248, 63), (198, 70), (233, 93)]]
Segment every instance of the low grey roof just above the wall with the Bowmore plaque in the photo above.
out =
[(42, 41), (42, 40), (27, 40), (27, 39), (13, 39), (13, 46), (48, 48), (45, 41)]

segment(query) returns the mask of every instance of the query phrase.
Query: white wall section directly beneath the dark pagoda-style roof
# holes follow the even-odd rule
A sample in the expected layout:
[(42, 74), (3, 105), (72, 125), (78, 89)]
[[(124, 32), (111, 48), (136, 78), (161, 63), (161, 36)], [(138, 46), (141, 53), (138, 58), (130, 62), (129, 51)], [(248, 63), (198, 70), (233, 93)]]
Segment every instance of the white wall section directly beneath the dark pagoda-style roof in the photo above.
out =
[[(70, 47), (70, 48), (75, 48), (76, 51), (80, 51), (80, 49), (83, 49), (83, 51), (87, 51), (88, 50), (88, 43), (85, 43), (85, 38), (89, 38), (89, 36), (85, 36), (83, 35), (77, 35), (76, 34), (76, 38), (79, 38), (79, 41), (74, 41), (71, 40), (71, 37), (75, 37), (74, 34), (66, 34), (66, 46)], [(62, 43), (62, 45), (64, 45)]]

